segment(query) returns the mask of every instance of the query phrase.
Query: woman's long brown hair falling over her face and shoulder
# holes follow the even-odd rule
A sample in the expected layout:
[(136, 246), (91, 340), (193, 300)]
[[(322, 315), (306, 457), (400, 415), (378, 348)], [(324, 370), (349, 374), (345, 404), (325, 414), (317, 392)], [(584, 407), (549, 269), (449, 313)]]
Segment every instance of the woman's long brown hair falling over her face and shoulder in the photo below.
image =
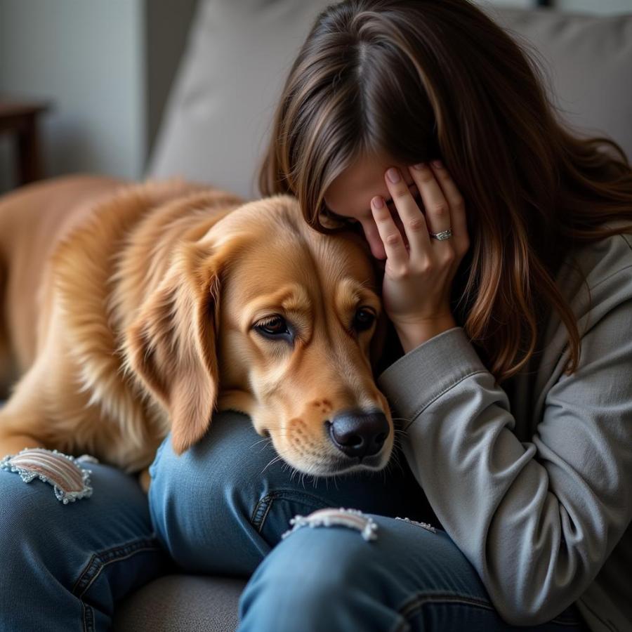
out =
[(562, 121), (546, 80), (536, 51), (468, 0), (332, 4), (289, 72), (259, 188), (296, 195), (305, 220), (329, 232), (325, 192), (358, 157), (441, 157), (471, 244), (457, 322), (502, 381), (525, 366), (555, 308), (570, 374), (580, 336), (555, 271), (574, 246), (632, 230), (632, 170), (617, 143)]

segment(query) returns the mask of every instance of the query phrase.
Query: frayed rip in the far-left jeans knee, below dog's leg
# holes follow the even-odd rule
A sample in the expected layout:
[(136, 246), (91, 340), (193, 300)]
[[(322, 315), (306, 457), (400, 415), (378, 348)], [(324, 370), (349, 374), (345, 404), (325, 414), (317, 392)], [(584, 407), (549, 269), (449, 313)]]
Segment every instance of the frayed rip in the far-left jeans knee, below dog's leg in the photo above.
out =
[(72, 503), (92, 495), (91, 470), (84, 468), (85, 462), (98, 462), (84, 454), (79, 459), (57, 450), (27, 448), (0, 461), (0, 469), (15, 472), (24, 482), (39, 478), (53, 486), (55, 497), (62, 503)]

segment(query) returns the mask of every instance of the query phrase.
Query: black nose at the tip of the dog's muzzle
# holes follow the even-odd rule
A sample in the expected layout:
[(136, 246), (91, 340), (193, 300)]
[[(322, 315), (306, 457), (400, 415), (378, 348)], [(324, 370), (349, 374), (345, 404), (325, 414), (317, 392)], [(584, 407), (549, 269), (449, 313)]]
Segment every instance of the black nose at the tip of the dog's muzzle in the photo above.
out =
[(348, 456), (377, 454), (388, 437), (388, 420), (383, 412), (338, 414), (329, 423), (334, 445)]

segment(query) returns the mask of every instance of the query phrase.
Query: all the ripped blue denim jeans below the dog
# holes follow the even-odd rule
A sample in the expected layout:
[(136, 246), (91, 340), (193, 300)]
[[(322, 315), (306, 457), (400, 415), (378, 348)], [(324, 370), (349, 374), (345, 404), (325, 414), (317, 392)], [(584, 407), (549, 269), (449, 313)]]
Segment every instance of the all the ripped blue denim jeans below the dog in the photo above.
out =
[[(401, 454), (388, 476), (335, 480), (292, 476), (274, 457), (247, 416), (218, 414), (183, 456), (160, 447), (151, 516), (117, 468), (89, 464), (92, 496), (67, 505), (48, 483), (0, 470), (0, 630), (105, 632), (117, 600), (178, 568), (251, 577), (240, 632), (524, 629), (503, 624), (444, 532), (393, 518), (439, 526)], [(378, 538), (345, 527), (281, 538), (294, 515), (329, 506), (370, 513)], [(534, 629), (580, 625), (572, 607)]]

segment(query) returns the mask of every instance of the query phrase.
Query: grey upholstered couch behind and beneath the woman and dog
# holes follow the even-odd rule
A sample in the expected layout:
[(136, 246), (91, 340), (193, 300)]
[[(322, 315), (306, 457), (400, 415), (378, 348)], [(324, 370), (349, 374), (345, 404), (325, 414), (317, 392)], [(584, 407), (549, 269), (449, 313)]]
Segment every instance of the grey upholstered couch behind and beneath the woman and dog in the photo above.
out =
[[(181, 174), (259, 197), (256, 165), (289, 65), (324, 0), (199, 4), (147, 176)], [(607, 134), (632, 159), (632, 15), (487, 9), (548, 67), (550, 90), (578, 130)], [(117, 607), (117, 632), (228, 631), (243, 581), (172, 574)]]

